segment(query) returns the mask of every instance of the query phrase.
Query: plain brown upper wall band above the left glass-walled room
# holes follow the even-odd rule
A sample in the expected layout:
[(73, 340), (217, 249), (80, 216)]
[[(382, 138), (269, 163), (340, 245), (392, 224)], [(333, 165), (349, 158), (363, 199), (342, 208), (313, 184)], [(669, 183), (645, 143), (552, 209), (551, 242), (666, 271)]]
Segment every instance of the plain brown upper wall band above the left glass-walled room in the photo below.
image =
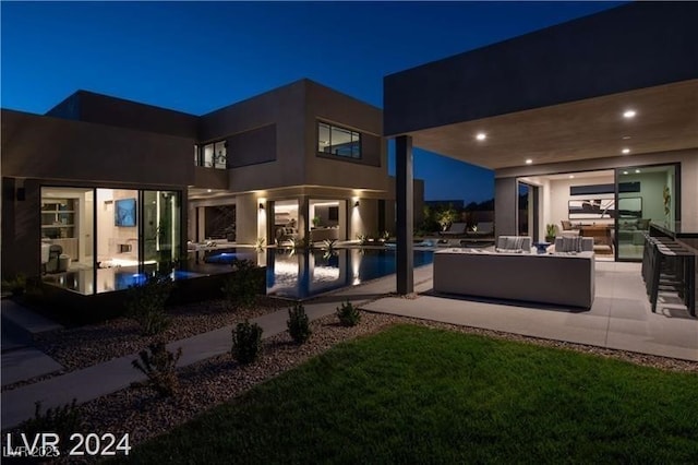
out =
[(144, 184), (193, 182), (186, 138), (2, 110), (2, 175)]

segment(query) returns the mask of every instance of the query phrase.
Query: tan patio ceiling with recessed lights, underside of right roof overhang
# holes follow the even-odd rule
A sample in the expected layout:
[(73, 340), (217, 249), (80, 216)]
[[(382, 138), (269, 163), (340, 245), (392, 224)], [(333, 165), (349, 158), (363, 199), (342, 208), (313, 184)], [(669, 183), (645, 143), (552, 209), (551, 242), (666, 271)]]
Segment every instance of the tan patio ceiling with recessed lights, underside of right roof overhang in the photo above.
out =
[[(623, 112), (633, 109), (634, 118)], [(486, 134), (480, 141), (478, 133)], [(698, 80), (411, 131), (413, 145), (490, 169), (698, 147)]]

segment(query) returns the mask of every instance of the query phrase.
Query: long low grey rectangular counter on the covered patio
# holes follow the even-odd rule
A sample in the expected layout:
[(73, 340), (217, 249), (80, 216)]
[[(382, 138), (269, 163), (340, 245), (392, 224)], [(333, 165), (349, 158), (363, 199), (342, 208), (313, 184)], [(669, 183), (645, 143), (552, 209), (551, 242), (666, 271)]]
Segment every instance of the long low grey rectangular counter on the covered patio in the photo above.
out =
[(434, 291), (591, 308), (594, 254), (440, 250), (434, 252)]

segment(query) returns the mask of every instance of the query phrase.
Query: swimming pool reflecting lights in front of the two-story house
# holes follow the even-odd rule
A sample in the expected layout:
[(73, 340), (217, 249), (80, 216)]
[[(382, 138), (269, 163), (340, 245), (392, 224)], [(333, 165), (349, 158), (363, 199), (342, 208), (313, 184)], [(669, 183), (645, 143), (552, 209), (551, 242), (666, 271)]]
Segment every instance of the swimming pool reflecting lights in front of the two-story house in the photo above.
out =
[[(266, 261), (266, 293), (269, 296), (305, 299), (342, 287), (395, 273), (396, 251), (382, 249), (337, 249), (292, 252), (268, 249), (257, 255), (250, 249), (227, 249), (205, 258), (206, 263), (230, 264), (233, 260)], [(414, 251), (414, 266), (432, 263), (432, 251)], [(260, 263), (262, 264), (262, 263)]]

